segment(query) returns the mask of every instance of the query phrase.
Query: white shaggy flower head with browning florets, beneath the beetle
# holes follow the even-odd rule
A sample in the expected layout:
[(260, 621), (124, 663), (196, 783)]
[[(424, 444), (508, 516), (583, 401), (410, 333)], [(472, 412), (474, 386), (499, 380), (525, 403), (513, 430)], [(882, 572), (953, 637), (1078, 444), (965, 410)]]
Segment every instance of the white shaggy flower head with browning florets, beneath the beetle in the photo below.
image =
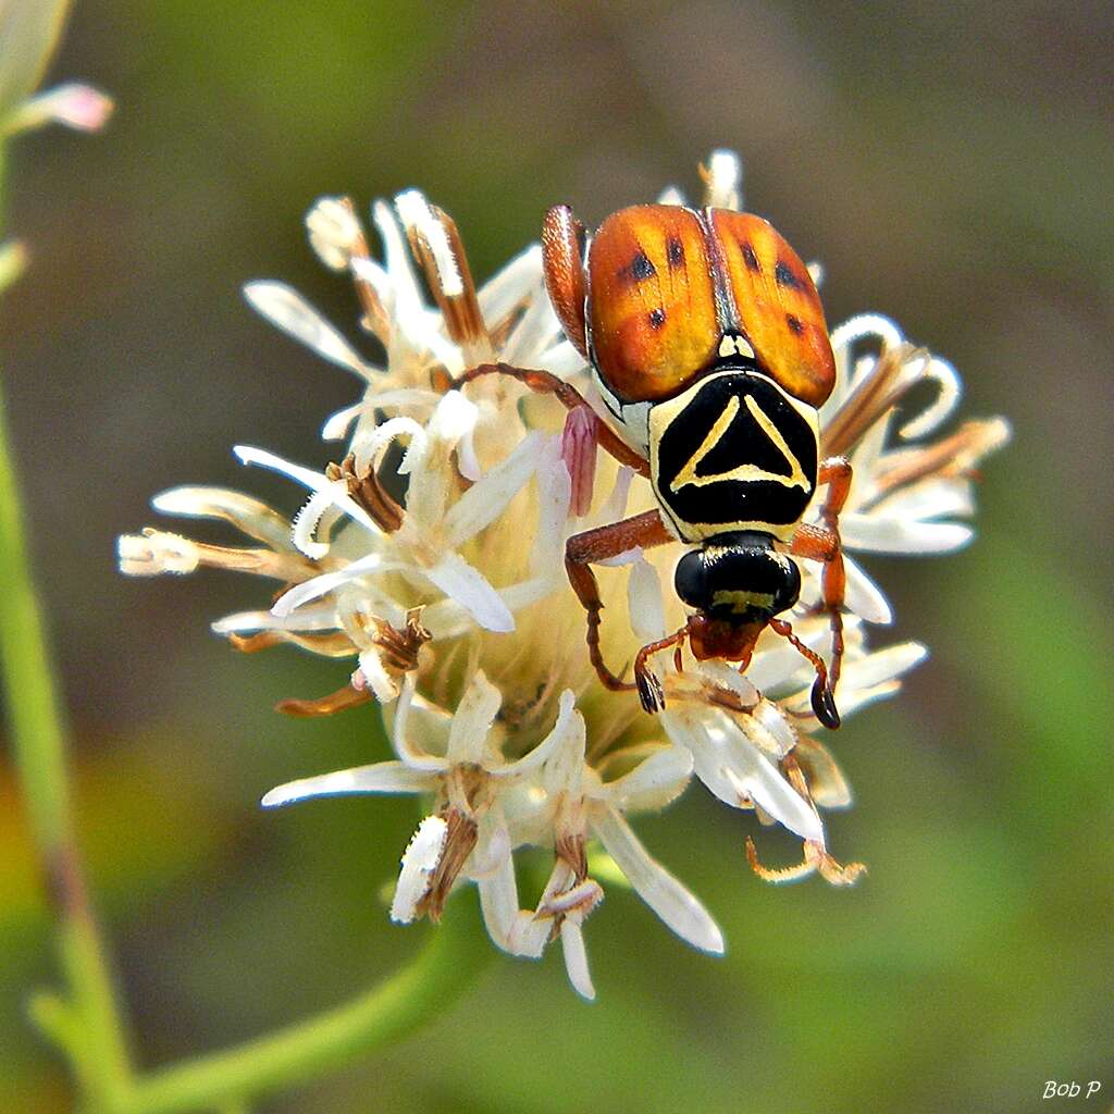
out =
[[(714, 153), (702, 176), (706, 204), (739, 206), (734, 155)], [(665, 197), (684, 201), (676, 190)], [(665, 710), (646, 716), (629, 694), (604, 691), (588, 662), (565, 544), (573, 532), (654, 502), (631, 468), (597, 452), (605, 427), (596, 412), (575, 407), (563, 419), (553, 398), (529, 392), (532, 378), (574, 400), (564, 384), (593, 397), (584, 360), (546, 297), (540, 250), (527, 247), (477, 289), (456, 224), (417, 190), (393, 205), (377, 203), (372, 221), (379, 257), (348, 198), (320, 199), (306, 225), (325, 265), (352, 277), (362, 323), (384, 349), (381, 367), (289, 286), (256, 282), (245, 290), (278, 329), (356, 377), (359, 397), (323, 428), (326, 440), (346, 448), (322, 459), (341, 462), (319, 470), (237, 447), (244, 463), (278, 471), (309, 492), (301, 509), (287, 516), (237, 492), (177, 488), (155, 500), (157, 510), (219, 519), (248, 545), (150, 529), (119, 543), (129, 575), (213, 566), (282, 584), (276, 598), (263, 594), (258, 609), (213, 624), (246, 653), (294, 645), (349, 659), (334, 693), (284, 701), (282, 711), (325, 715), (372, 700), (382, 705), (392, 758), (290, 782), (264, 805), (348, 793), (424, 797), (429, 814), (402, 857), (391, 918), (436, 920), (453, 890), (473, 885), (492, 942), (536, 958), (559, 941), (569, 980), (586, 998), (595, 988), (583, 927), (604, 898), (592, 871), (596, 848), (682, 939), (713, 954), (724, 949), (712, 915), (632, 825), (694, 781), (801, 840), (799, 864), (771, 868), (747, 838), (760, 877), (854, 882), (864, 868), (832, 857), (821, 815), (848, 808), (851, 791), (810, 700), (810, 658), (825, 670), (833, 646), (814, 563), (799, 561), (800, 602), (782, 624), (791, 641), (771, 628), (747, 662), (734, 664), (695, 662), (667, 637), (685, 620), (672, 588), (678, 546), (635, 548), (604, 563), (602, 651), (608, 661), (632, 661), (639, 647), (659, 643), (653, 663)], [(889, 320), (854, 317), (831, 340), (837, 380), (820, 412), (821, 438), (825, 452), (847, 453), (853, 467), (840, 515), (847, 592), (838, 700), (847, 719), (896, 694), (926, 653), (915, 642), (872, 647), (871, 625), (893, 615), (859, 559), (965, 545), (973, 531), (957, 519), (971, 515), (979, 461), (1009, 429), (991, 419), (937, 436), (959, 401), (958, 375), (907, 343)], [(489, 362), (531, 374), (521, 377), (527, 382), (488, 375), (455, 389), (469, 369)], [(935, 399), (906, 412), (926, 381)], [(821, 537), (823, 498), (821, 490), (803, 534)], [(526, 847), (553, 854), (532, 903), (524, 903), (515, 870)]]

